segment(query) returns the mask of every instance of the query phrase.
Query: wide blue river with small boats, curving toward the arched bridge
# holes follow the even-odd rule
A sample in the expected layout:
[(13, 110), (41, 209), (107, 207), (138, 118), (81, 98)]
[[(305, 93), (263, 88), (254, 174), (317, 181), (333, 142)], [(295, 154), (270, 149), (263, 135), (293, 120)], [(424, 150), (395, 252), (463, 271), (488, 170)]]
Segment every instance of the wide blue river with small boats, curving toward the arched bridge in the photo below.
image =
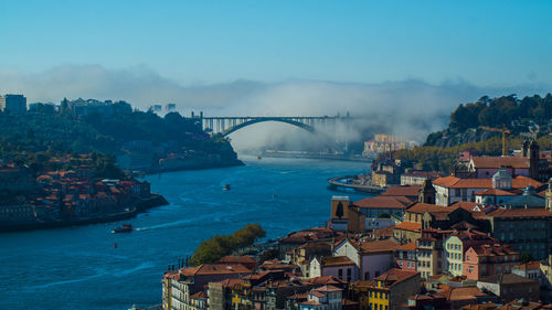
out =
[(241, 159), (246, 165), (147, 177), (170, 204), (125, 221), (137, 227), (130, 234), (110, 233), (120, 222), (0, 234), (0, 309), (158, 304), (168, 264), (201, 240), (247, 223), (259, 223), (267, 238), (322, 225), (331, 196), (343, 195), (328, 190), (326, 179), (369, 169), (365, 162)]

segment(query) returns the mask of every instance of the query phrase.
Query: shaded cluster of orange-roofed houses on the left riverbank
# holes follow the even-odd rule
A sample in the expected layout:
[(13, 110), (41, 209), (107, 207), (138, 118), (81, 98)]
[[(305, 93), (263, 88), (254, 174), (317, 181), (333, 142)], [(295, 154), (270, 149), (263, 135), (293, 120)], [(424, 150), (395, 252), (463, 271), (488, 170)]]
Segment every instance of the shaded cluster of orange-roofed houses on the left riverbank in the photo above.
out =
[[(66, 160), (56, 158), (52, 162)], [(4, 167), (0, 169), (0, 190), (9, 197), (0, 205), (0, 223), (10, 225), (130, 212), (134, 204), (150, 195), (148, 182), (98, 180), (87, 164), (47, 171), (38, 178), (29, 168)]]

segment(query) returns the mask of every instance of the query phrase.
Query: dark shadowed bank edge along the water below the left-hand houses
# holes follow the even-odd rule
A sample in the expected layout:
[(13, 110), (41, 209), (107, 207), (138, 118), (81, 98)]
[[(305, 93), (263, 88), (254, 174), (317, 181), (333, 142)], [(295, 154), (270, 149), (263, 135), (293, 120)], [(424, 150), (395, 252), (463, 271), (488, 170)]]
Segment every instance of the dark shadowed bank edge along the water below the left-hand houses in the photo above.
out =
[(146, 212), (149, 209), (166, 204), (169, 204), (169, 202), (162, 195), (151, 193), (149, 197), (139, 200), (132, 206), (127, 207), (123, 212), (106, 214), (102, 216), (82, 217), (82, 218), (66, 220), (66, 221), (59, 220), (59, 221), (28, 222), (28, 223), (15, 223), (15, 224), (4, 223), (0, 226), (0, 233), (52, 229), (61, 227), (83, 226), (91, 224), (124, 221), (132, 218), (139, 213)]

